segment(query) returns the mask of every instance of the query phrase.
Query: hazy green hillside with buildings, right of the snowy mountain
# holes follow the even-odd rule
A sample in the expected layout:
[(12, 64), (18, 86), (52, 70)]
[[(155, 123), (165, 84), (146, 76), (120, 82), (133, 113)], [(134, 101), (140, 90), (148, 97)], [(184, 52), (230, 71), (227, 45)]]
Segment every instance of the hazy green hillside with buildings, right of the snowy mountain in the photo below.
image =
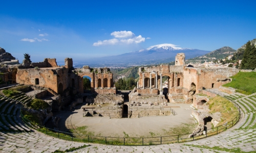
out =
[(222, 48), (219, 48), (219, 49), (216, 49), (210, 53), (207, 53), (203, 56), (199, 56), (199, 57), (195, 57), (193, 59), (188, 59), (186, 61), (186, 63), (189, 63), (189, 62), (205, 62), (205, 61), (215, 61), (217, 59), (224, 59), (226, 58), (227, 56), (229, 55), (232, 55), (233, 53), (236, 53), (237, 50), (234, 50), (233, 48), (231, 47), (228, 47), (228, 46), (225, 46), (225, 47), (222, 47)]

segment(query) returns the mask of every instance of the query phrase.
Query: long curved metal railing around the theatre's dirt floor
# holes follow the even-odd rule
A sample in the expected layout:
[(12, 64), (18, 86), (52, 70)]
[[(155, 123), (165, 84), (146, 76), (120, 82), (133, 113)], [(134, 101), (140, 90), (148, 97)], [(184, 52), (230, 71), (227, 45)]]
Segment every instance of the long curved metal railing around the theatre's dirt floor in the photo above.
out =
[[(218, 95), (223, 95), (218, 92), (212, 92)], [(229, 99), (229, 98), (228, 98)], [(233, 125), (236, 125), (238, 121), (242, 118), (242, 111), (235, 101), (229, 99), (234, 106), (237, 107), (239, 114), (229, 122), (213, 127), (212, 129), (206, 130), (205, 135), (196, 136), (196, 133), (187, 133), (180, 135), (171, 136), (159, 136), (159, 137), (104, 137), (104, 136), (92, 136), (92, 135), (82, 135), (76, 133), (62, 132), (55, 129), (50, 129), (45, 126), (37, 125), (32, 123), (30, 120), (24, 117), (22, 114), (22, 108), (20, 108), (20, 116), (23, 121), (30, 127), (45, 133), (50, 136), (58, 137), (60, 139), (78, 141), (78, 142), (92, 142), (92, 143), (102, 143), (110, 145), (157, 145), (157, 144), (167, 144), (167, 143), (179, 143), (186, 141), (193, 141), (197, 139), (206, 138), (212, 135), (218, 135), (219, 133), (226, 131)], [(190, 136), (190, 137), (188, 137)]]

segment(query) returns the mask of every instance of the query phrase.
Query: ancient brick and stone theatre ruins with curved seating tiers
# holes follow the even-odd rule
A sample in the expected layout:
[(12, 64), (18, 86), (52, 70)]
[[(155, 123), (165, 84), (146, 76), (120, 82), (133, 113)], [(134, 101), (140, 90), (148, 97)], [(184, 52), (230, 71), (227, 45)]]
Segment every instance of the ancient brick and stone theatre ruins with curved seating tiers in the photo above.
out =
[[(1, 67), (2, 79), (10, 84), (24, 85), (15, 96), (0, 95), (0, 152), (248, 152), (255, 151), (256, 94), (243, 95), (223, 88), (239, 72), (235, 68), (187, 67), (185, 55), (177, 54), (175, 65), (158, 65), (139, 68), (139, 81), (133, 91), (115, 88), (113, 73), (109, 68), (73, 68), (73, 61), (65, 59), (58, 66), (56, 59), (43, 62), (24, 61), (21, 65)], [(91, 78), (91, 90), (83, 89), (83, 77)], [(162, 78), (167, 77), (163, 88)], [(2, 89), (13, 88), (2, 87)], [(207, 113), (208, 97), (220, 95), (228, 98), (238, 109), (239, 115), (230, 122), (218, 125), (217, 114)], [(48, 109), (26, 108), (31, 99), (44, 99)], [(191, 116), (200, 126), (184, 135), (159, 137), (118, 137), (78, 135), (59, 130), (40, 128), (24, 117), (22, 110), (36, 114), (41, 125), (53, 118), (54, 112), (65, 109), (74, 111), (82, 106), (82, 120), (129, 118), (143, 116), (178, 116), (171, 105), (191, 106)], [(205, 130), (205, 119), (214, 127)], [(57, 118), (55, 118), (58, 120)], [(56, 121), (57, 122), (57, 121)], [(147, 127), (142, 127), (147, 128)], [(203, 138), (203, 139), (202, 139)], [(78, 142), (80, 141), (80, 142)], [(131, 145), (131, 146), (127, 146)]]

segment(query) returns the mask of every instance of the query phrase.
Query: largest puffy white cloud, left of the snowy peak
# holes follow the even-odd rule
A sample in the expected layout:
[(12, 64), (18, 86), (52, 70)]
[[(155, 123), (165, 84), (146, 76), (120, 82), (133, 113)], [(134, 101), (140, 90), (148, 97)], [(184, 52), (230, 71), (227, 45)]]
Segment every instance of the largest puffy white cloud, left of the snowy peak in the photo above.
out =
[(115, 31), (111, 33), (111, 36), (114, 36), (115, 38), (103, 41), (99, 40), (98, 42), (93, 43), (93, 46), (141, 43), (146, 39), (141, 35), (135, 36), (131, 31)]

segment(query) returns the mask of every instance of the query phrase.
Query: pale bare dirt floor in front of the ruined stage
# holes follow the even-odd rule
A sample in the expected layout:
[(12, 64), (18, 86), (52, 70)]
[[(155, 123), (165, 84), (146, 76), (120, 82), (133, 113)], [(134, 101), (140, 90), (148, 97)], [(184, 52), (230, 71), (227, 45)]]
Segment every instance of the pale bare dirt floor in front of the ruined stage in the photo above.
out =
[(141, 118), (119, 118), (109, 117), (83, 117), (82, 107), (76, 106), (72, 111), (61, 111), (57, 114), (61, 117), (59, 128), (61, 131), (69, 131), (79, 126), (88, 126), (87, 131), (98, 136), (130, 137), (141, 136), (163, 136), (170, 128), (195, 124), (195, 119), (190, 116), (193, 109), (189, 104), (170, 104), (177, 113), (175, 116), (144, 116)]

